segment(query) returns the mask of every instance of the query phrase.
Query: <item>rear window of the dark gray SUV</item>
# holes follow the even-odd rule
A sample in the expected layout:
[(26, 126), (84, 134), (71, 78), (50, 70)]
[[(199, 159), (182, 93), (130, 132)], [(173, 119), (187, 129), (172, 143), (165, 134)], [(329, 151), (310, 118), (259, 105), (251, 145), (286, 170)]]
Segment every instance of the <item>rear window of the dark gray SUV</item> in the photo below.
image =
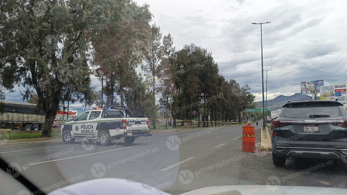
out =
[(309, 118), (310, 115), (338, 117), (346, 115), (346, 110), (342, 105), (335, 103), (302, 102), (285, 105), (280, 114), (286, 118)]

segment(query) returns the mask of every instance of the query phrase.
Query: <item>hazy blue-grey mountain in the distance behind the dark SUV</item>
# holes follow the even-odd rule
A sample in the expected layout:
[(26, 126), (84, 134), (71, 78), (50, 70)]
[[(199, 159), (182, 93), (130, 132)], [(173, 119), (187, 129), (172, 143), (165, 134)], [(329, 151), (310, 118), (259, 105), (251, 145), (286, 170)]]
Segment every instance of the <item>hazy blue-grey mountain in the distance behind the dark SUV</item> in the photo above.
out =
[[(291, 96), (284, 96), (284, 95), (280, 95), (274, 99), (268, 99), (267, 101), (267, 107), (271, 108), (271, 110), (278, 110), (278, 109), (282, 109), (282, 106), (287, 103), (288, 100), (291, 101), (305, 101), (305, 100), (310, 100), (312, 96), (308, 96), (305, 94), (301, 94), (301, 93), (296, 93), (294, 95)], [(319, 100), (320, 97), (319, 95), (317, 96), (317, 100)], [(258, 101), (258, 106), (257, 108), (262, 108), (263, 107), (263, 101)]]

